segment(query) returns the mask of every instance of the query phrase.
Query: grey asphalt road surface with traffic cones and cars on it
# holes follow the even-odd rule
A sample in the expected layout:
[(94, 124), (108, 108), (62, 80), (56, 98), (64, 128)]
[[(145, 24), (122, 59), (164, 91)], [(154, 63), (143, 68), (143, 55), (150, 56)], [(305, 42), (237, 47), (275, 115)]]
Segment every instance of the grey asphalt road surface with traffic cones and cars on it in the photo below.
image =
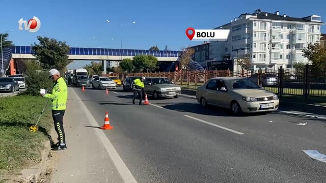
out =
[(326, 154), (326, 120), (291, 106), (234, 117), (189, 97), (139, 106), (119, 88), (73, 89), (98, 126), (108, 112), (114, 129), (103, 132), (137, 182), (326, 182), (326, 163), (302, 151)]

